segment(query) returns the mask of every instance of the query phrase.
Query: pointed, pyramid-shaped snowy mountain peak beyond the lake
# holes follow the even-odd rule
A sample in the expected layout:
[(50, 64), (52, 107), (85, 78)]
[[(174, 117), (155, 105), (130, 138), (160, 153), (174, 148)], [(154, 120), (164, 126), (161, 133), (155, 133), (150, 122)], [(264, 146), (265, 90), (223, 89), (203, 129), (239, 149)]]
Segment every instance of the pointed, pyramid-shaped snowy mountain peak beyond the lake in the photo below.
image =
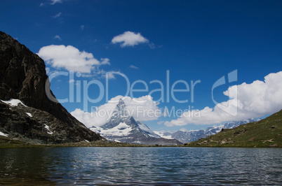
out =
[(126, 111), (126, 104), (122, 99), (116, 105), (114, 113), (102, 127), (91, 127), (92, 131), (98, 132), (111, 141), (123, 143), (135, 143), (145, 145), (180, 145), (175, 139), (161, 138), (149, 129), (146, 124), (135, 121)]

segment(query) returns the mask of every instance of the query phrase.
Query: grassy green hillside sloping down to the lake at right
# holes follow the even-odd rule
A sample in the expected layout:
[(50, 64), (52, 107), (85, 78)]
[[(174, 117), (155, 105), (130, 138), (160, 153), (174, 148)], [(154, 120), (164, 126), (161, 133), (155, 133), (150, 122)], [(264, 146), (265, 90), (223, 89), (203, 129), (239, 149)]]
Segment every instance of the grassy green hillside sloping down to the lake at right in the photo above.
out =
[(282, 110), (260, 120), (188, 144), (213, 147), (282, 147)]

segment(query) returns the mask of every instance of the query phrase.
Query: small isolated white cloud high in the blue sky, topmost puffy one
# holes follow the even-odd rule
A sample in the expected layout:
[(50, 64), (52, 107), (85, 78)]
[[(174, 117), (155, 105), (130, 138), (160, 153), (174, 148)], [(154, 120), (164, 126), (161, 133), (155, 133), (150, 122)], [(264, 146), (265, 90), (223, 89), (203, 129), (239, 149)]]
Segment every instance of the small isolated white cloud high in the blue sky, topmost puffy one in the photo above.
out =
[(148, 43), (149, 40), (143, 37), (140, 33), (134, 33), (133, 31), (125, 31), (119, 36), (112, 38), (112, 43), (121, 43), (121, 47), (134, 46), (140, 43)]

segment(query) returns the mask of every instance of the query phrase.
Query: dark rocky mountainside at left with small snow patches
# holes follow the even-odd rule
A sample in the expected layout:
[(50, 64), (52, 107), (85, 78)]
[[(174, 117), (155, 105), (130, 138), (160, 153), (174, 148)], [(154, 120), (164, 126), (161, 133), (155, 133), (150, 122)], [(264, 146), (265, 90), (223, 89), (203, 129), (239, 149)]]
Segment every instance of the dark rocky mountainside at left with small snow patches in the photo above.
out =
[(50, 83), (45, 68), (43, 59), (0, 31), (1, 134), (36, 143), (102, 139), (60, 103), (48, 99), (45, 87)]

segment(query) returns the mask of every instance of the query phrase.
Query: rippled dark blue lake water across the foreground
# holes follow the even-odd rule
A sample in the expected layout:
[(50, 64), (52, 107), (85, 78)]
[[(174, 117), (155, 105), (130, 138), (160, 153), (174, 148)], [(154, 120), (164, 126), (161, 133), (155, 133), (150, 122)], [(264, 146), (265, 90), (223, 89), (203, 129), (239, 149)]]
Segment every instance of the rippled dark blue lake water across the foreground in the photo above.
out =
[(282, 149), (0, 149), (0, 185), (280, 184)]

